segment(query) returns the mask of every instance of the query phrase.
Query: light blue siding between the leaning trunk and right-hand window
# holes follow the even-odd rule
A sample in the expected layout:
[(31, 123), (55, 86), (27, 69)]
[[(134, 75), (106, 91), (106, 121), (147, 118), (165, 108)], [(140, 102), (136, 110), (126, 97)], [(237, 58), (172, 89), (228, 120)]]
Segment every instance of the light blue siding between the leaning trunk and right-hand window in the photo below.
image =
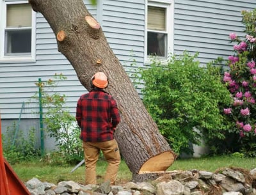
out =
[(143, 65), (145, 1), (104, 0), (101, 20), (108, 43), (124, 67), (133, 60)]

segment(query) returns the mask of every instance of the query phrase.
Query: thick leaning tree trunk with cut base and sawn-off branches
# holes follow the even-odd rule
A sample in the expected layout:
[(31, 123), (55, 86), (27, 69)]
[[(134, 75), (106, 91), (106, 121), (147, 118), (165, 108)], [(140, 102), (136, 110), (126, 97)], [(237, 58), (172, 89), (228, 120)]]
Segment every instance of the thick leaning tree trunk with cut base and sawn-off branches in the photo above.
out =
[(95, 72), (108, 75), (108, 92), (118, 103), (121, 123), (115, 138), (134, 177), (165, 171), (175, 160), (159, 133), (129, 76), (111, 50), (100, 24), (82, 0), (30, 0), (33, 10), (44, 15), (56, 35), (58, 50), (76, 70), (81, 84), (90, 90)]

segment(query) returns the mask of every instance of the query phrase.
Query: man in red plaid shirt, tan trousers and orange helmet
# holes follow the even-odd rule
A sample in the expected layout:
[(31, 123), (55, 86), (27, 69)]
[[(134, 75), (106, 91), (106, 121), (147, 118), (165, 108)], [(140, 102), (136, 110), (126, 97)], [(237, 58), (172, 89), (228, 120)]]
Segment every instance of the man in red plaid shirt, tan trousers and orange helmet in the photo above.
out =
[(108, 87), (108, 77), (97, 72), (92, 77), (92, 90), (81, 95), (77, 101), (76, 120), (81, 128), (85, 161), (85, 183), (97, 184), (96, 163), (102, 151), (108, 162), (104, 182), (115, 184), (120, 153), (113, 137), (120, 122), (120, 114), (114, 98), (104, 91)]

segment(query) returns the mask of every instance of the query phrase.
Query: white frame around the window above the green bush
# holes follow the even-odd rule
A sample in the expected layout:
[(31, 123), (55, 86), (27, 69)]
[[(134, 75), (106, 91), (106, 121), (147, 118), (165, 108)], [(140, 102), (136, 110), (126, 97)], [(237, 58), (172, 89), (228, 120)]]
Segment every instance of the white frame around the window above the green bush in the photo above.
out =
[[(148, 6), (156, 6), (160, 8), (166, 9), (166, 31), (164, 33), (167, 34), (167, 58), (168, 54), (173, 53), (173, 26), (174, 26), (174, 0), (150, 0), (145, 3), (145, 63), (150, 63), (150, 56), (147, 55), (147, 35), (148, 35), (148, 26), (147, 26), (147, 16), (148, 16)], [(157, 58), (161, 60), (166, 60), (167, 58), (158, 56)]]

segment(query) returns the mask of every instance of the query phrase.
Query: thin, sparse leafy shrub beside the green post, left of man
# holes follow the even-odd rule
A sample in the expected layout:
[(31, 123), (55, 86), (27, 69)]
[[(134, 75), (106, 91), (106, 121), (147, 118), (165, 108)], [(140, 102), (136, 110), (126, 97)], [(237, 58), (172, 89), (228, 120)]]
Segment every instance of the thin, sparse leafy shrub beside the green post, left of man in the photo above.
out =
[[(42, 106), (44, 108), (44, 130), (54, 137), (59, 152), (63, 153), (66, 162), (76, 163), (83, 159), (83, 148), (79, 135), (81, 130), (77, 126), (76, 118), (65, 107), (66, 97), (54, 92), (58, 81), (67, 77), (55, 74), (46, 82), (36, 83), (42, 93)], [(38, 93), (33, 96), (38, 98)]]

